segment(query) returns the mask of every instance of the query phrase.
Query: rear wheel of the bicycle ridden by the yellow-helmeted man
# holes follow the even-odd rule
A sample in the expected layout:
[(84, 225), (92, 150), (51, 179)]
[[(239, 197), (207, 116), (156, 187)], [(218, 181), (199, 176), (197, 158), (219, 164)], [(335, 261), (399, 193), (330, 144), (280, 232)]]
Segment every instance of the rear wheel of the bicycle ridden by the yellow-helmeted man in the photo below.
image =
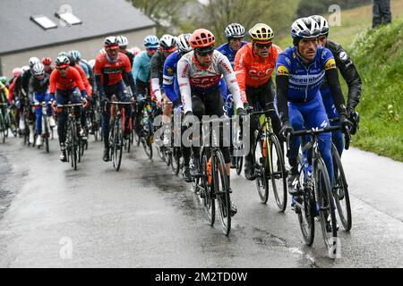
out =
[(254, 172), (256, 174), (256, 189), (262, 204), (266, 204), (269, 198), (269, 180), (266, 175), (265, 157), (263, 156), (263, 140), (256, 141), (254, 149)]

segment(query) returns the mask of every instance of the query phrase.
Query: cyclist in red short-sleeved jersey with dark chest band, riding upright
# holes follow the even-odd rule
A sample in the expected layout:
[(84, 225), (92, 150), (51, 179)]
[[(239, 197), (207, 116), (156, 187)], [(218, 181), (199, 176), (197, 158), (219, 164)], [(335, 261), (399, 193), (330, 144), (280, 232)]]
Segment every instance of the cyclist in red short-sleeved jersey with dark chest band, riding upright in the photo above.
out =
[[(102, 131), (104, 135), (103, 160), (109, 161), (109, 130), (110, 130), (110, 108), (107, 103), (115, 95), (121, 102), (133, 101), (133, 96), (127, 92), (126, 86), (135, 90), (132, 70), (129, 58), (119, 53), (119, 43), (116, 37), (107, 37), (104, 41), (106, 54), (97, 56), (94, 66), (95, 82), (99, 92), (100, 106), (102, 110)], [(125, 75), (124, 75), (125, 74)], [(124, 85), (124, 80), (127, 80)], [(130, 118), (132, 106), (124, 105), (124, 116)], [(130, 136), (129, 120), (124, 122), (124, 137)]]

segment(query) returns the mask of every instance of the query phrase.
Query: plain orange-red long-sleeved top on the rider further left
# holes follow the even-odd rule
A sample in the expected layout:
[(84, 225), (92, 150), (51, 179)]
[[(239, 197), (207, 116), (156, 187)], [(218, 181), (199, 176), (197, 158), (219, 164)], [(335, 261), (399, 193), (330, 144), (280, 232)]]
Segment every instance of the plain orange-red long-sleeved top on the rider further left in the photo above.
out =
[(57, 89), (73, 89), (78, 87), (80, 91), (85, 90), (84, 83), (81, 80), (80, 72), (73, 67), (67, 69), (67, 75), (65, 78), (60, 76), (59, 71), (55, 69), (50, 74), (49, 92), (55, 93)]

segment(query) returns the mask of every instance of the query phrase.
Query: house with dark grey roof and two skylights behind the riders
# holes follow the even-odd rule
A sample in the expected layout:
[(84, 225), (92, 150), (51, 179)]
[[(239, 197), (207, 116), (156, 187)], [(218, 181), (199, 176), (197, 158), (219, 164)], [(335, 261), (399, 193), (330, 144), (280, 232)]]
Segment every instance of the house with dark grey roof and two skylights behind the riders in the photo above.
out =
[(76, 49), (90, 60), (107, 36), (143, 48), (143, 38), (156, 33), (154, 21), (124, 0), (1, 0), (0, 11), (0, 75), (7, 77), (31, 56), (54, 60)]

